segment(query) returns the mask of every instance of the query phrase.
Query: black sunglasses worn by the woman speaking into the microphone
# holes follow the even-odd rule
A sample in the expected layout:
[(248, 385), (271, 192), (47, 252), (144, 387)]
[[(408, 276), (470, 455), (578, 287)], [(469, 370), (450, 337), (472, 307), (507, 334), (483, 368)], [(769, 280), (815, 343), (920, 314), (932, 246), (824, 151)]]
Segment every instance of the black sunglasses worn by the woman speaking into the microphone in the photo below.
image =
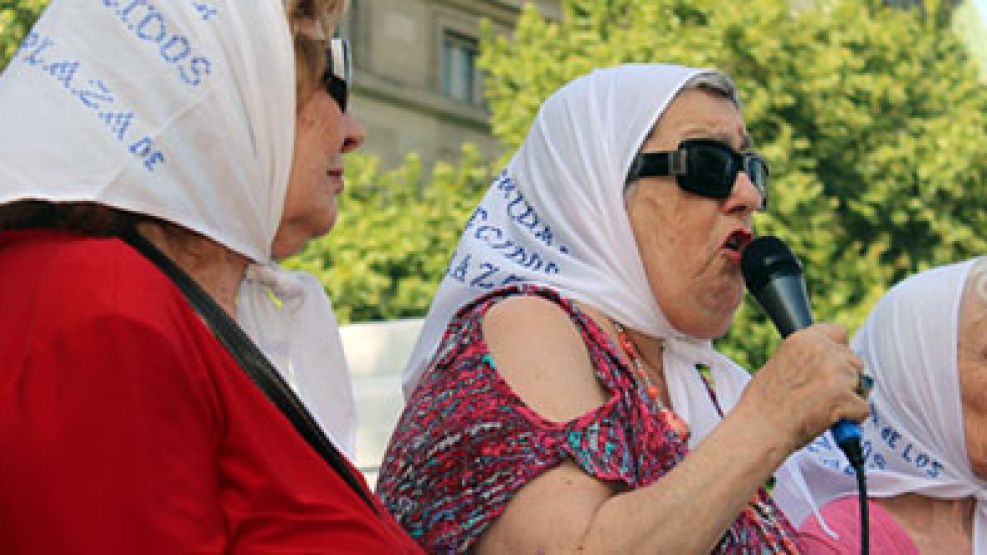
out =
[(713, 139), (688, 139), (672, 152), (642, 152), (634, 158), (627, 183), (639, 177), (674, 175), (683, 190), (707, 198), (725, 199), (737, 174), (747, 174), (761, 194), (761, 209), (768, 203), (768, 163), (756, 152), (734, 152)]

